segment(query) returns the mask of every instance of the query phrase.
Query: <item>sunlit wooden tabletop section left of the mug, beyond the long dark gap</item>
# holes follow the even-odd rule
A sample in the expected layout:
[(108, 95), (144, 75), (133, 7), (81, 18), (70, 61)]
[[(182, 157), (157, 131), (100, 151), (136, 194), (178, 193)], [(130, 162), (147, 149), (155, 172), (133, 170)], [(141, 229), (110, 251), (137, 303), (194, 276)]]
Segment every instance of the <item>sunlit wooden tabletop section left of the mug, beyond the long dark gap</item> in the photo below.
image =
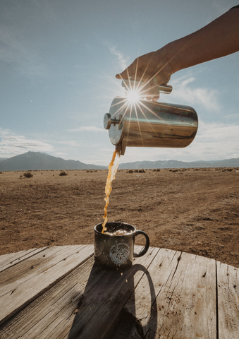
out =
[(93, 245), (53, 246), (0, 275), (0, 324), (42, 295), (93, 254)]

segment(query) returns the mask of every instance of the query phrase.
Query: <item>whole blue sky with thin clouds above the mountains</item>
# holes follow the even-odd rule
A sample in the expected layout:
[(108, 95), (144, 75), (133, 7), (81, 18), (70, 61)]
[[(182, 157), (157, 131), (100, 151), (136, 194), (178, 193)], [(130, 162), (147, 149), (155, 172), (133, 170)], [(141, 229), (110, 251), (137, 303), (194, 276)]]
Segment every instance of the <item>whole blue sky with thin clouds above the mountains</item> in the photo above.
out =
[[(238, 0), (0, 0), (0, 158), (37, 151), (108, 165), (115, 75)], [(187, 148), (126, 148), (122, 162), (239, 157), (239, 53), (178, 71), (159, 102), (199, 117)]]

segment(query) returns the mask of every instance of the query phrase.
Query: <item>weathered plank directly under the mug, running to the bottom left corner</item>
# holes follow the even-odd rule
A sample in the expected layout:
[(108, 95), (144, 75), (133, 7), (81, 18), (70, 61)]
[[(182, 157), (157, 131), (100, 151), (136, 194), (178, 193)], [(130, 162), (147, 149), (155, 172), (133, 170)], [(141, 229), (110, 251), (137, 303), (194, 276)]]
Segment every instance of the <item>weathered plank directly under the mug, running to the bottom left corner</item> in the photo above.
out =
[(158, 251), (150, 249), (122, 275), (90, 258), (1, 328), (1, 338), (104, 338)]

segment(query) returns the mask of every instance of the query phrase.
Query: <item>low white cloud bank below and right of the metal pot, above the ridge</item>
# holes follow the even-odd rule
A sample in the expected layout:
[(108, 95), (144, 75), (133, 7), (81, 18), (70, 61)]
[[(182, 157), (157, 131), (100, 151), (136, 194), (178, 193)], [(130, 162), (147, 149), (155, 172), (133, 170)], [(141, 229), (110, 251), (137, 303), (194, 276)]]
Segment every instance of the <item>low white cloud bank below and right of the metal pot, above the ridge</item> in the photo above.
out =
[(126, 148), (121, 162), (181, 160), (223, 160), (239, 157), (239, 124), (200, 121), (197, 136), (186, 148)]

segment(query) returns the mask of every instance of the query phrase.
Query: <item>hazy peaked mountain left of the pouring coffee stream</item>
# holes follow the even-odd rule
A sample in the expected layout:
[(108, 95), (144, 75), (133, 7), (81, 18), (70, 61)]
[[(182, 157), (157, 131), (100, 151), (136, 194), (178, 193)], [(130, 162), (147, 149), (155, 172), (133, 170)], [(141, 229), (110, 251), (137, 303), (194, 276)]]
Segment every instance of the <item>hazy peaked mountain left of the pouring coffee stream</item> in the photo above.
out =
[(105, 169), (104, 166), (88, 165), (76, 160), (64, 160), (46, 153), (27, 152), (0, 161), (0, 171), (29, 171), (52, 169)]

